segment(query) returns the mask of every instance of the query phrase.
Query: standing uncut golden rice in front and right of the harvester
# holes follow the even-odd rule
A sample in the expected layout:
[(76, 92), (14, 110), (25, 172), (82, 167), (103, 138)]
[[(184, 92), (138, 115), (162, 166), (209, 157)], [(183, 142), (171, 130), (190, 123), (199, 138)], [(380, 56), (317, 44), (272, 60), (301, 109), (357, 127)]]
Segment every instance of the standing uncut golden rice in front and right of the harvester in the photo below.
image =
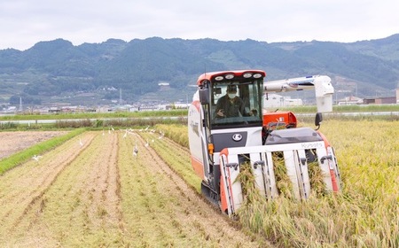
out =
[(240, 223), (284, 247), (399, 247), (399, 122), (328, 120), (321, 132), (335, 147), (342, 191), (307, 201), (253, 194)]

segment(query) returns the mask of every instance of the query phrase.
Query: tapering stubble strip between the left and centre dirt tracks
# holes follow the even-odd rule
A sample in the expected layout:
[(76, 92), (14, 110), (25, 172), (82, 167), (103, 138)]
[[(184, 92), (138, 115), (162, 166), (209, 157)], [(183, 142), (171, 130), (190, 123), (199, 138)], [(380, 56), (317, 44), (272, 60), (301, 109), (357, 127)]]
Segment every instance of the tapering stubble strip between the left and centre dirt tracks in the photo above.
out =
[[(14, 239), (40, 247), (104, 247), (121, 240), (118, 136), (93, 138), (20, 221)], [(30, 245), (29, 245), (30, 246)]]

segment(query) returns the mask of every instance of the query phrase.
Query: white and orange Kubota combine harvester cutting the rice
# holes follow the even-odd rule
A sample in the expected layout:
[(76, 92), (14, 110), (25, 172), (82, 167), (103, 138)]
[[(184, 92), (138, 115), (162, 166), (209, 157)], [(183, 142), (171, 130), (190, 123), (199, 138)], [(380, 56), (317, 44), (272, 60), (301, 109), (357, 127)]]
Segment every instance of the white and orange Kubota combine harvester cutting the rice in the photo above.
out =
[[(229, 216), (237, 213), (244, 201), (237, 180), (244, 163), (252, 168), (256, 188), (270, 200), (278, 197), (276, 156), (284, 159), (295, 198), (309, 198), (308, 165), (314, 162), (322, 171), (325, 190), (340, 190), (334, 150), (317, 131), (322, 112), (332, 112), (331, 79), (317, 75), (264, 82), (265, 76), (261, 70), (202, 74), (188, 112), (192, 167), (202, 178), (202, 194)], [(235, 116), (218, 104), (227, 89), (235, 89), (239, 97)], [(316, 91), (316, 130), (297, 128), (293, 112), (263, 112), (263, 94), (302, 89)]]

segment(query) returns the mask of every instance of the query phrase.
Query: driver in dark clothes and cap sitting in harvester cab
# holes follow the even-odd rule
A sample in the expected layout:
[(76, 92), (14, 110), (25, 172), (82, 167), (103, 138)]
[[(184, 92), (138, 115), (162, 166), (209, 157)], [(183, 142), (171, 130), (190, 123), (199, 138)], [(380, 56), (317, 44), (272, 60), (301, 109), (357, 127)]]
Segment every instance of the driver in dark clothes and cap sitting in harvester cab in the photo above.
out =
[(244, 102), (237, 96), (237, 86), (228, 85), (226, 95), (217, 100), (216, 118), (239, 117), (244, 114)]

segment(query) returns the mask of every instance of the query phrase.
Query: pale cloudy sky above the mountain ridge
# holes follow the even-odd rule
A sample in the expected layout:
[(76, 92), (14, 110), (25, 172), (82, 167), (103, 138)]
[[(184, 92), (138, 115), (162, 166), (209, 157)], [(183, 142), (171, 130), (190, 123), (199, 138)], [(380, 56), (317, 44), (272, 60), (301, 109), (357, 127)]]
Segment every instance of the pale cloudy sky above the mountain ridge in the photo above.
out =
[(0, 0), (0, 50), (150, 37), (353, 43), (399, 34), (397, 0)]

